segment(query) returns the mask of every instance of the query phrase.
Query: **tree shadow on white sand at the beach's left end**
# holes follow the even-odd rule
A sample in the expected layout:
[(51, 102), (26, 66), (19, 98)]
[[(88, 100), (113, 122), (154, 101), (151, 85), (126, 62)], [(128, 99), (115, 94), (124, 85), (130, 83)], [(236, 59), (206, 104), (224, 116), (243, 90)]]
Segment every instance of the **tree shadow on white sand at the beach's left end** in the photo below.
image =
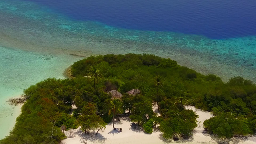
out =
[(96, 132), (91, 132), (89, 134), (85, 134), (85, 132), (83, 132), (82, 130), (77, 130), (77, 132), (75, 134), (78, 135), (79, 137), (81, 137), (81, 140), (91, 141), (96, 144), (105, 144), (105, 141), (107, 139), (107, 138), (104, 138), (104, 136), (100, 133), (95, 135)]

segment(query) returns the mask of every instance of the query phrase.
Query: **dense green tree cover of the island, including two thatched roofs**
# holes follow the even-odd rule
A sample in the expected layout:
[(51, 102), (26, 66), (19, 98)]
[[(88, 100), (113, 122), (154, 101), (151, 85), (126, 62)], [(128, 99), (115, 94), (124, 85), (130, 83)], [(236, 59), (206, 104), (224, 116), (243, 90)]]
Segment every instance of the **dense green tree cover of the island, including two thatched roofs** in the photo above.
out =
[[(61, 144), (73, 130), (84, 135), (78, 144), (91, 144), (106, 127), (113, 135), (158, 132), (163, 143), (193, 141), (198, 125), (227, 143), (256, 133), (256, 84), (242, 77), (224, 83), (151, 54), (90, 56), (69, 77), (25, 89), (22, 112), (0, 144)], [(198, 121), (195, 109), (211, 117)], [(117, 127), (122, 121), (130, 129)]]

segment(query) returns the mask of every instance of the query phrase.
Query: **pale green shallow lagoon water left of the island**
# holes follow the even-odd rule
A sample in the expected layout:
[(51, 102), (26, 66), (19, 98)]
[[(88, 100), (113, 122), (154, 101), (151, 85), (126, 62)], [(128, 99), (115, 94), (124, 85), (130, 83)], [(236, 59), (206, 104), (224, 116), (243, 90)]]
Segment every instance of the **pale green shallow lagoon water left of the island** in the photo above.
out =
[(20, 113), (20, 107), (6, 101), (46, 78), (64, 78), (63, 71), (79, 59), (0, 47), (0, 139), (9, 133)]

